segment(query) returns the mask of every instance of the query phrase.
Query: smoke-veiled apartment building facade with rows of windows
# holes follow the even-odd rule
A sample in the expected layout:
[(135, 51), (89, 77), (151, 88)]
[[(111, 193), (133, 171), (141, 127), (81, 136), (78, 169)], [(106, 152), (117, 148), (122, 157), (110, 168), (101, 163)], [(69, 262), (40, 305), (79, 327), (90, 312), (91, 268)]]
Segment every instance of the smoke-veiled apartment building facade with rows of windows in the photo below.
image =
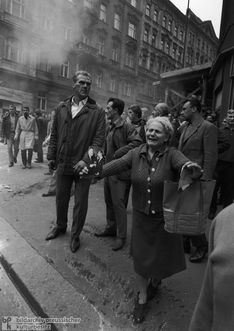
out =
[[(91, 97), (151, 109), (157, 73), (212, 61), (210, 21), (186, 15), (169, 0), (1, 0), (0, 109), (10, 103), (51, 112), (72, 95), (77, 70), (92, 76)], [(186, 41), (186, 42), (185, 42)]]

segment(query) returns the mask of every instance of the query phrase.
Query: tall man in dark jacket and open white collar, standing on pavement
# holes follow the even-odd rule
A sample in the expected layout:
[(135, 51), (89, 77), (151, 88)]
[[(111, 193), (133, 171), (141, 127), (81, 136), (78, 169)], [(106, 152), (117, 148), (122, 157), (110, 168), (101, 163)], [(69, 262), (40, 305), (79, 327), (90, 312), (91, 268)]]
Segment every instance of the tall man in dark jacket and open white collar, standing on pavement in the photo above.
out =
[(105, 137), (105, 112), (89, 97), (91, 76), (78, 71), (72, 77), (74, 96), (61, 102), (56, 109), (51, 130), (47, 159), (50, 168), (57, 168), (55, 228), (46, 240), (56, 238), (67, 229), (67, 211), (72, 183), (75, 183), (70, 249), (79, 246), (87, 209), (91, 178), (80, 179), (79, 172), (87, 166), (88, 150), (102, 148)]

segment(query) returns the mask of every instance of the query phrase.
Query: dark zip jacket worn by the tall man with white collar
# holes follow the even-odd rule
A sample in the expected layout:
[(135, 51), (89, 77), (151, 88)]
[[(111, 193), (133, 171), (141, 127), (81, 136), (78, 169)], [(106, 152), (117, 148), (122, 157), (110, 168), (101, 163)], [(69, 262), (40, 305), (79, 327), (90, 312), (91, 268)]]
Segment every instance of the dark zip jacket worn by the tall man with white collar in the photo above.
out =
[(88, 97), (87, 103), (72, 119), (71, 96), (56, 109), (47, 159), (55, 160), (60, 174), (72, 174), (81, 160), (88, 161), (89, 147), (102, 148), (105, 137), (105, 112)]

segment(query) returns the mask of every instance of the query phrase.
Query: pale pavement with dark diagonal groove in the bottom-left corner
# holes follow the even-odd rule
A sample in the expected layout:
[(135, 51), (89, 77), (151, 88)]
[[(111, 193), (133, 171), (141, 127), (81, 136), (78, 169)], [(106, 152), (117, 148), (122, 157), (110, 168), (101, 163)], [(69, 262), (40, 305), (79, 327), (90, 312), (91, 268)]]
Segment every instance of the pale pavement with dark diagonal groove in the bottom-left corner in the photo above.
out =
[[(3, 218), (0, 218), (0, 316), (74, 317), (51, 330), (108, 331), (103, 315)], [(111, 327), (113, 330), (113, 328)], [(113, 330), (114, 331), (114, 330)]]

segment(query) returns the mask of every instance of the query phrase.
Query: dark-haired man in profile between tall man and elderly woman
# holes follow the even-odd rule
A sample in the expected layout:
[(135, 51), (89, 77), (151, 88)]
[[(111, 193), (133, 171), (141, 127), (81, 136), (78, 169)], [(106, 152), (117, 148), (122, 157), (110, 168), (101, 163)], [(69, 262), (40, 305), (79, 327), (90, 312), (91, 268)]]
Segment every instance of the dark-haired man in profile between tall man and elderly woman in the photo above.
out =
[[(134, 126), (121, 118), (124, 111), (124, 101), (109, 98), (105, 110), (106, 118), (110, 121), (106, 129), (104, 153), (105, 163), (122, 158), (131, 149), (142, 144), (142, 140)], [(97, 237), (115, 237), (118, 230), (118, 239), (113, 250), (121, 249), (127, 237), (127, 211), (124, 205), (126, 187), (131, 182), (131, 170), (119, 175), (104, 178), (104, 197), (106, 204), (105, 230), (96, 232)]]

